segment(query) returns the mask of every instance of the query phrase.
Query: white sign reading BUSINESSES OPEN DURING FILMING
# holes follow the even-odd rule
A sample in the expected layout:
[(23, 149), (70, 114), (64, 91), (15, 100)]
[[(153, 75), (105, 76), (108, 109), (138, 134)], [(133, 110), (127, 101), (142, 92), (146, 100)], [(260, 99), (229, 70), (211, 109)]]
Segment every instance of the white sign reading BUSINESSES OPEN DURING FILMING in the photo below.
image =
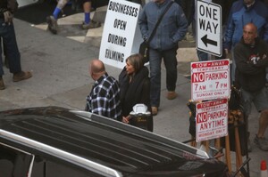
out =
[(110, 0), (99, 51), (99, 59), (104, 63), (123, 68), (130, 54), (138, 52), (138, 45), (142, 41), (138, 28), (139, 10), (139, 4)]

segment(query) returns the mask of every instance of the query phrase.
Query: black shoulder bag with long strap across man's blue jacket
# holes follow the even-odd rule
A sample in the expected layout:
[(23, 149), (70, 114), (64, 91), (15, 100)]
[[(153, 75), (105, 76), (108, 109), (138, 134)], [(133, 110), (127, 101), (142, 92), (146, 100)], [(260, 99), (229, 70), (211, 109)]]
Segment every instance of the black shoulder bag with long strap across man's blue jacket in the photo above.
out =
[(173, 4), (173, 2), (168, 4), (168, 6), (165, 8), (164, 12), (157, 20), (157, 22), (155, 24), (155, 28), (154, 28), (152, 34), (148, 37), (147, 41), (143, 41), (139, 45), (138, 52), (143, 56), (143, 60), (145, 63), (147, 63), (149, 61), (149, 43), (152, 40), (153, 36), (155, 35), (156, 29), (157, 29), (158, 25), (160, 24), (161, 20), (163, 19), (163, 15), (169, 10), (169, 8), (172, 6), (172, 4)]

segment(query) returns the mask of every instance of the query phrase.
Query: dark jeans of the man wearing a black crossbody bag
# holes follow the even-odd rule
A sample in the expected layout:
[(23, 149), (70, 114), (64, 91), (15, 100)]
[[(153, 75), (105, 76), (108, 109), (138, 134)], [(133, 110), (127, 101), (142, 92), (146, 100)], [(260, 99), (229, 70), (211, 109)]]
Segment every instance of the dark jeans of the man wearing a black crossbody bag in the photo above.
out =
[(175, 47), (166, 51), (149, 50), (150, 80), (151, 80), (151, 106), (159, 107), (161, 91), (161, 63), (163, 59), (166, 68), (166, 88), (169, 92), (175, 91), (177, 82), (177, 49)]

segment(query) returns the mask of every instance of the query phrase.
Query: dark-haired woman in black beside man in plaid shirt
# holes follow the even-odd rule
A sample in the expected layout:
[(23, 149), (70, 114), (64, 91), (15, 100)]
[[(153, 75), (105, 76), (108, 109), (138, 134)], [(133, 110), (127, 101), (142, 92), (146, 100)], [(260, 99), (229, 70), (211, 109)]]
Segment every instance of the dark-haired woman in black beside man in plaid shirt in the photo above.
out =
[[(130, 112), (136, 104), (145, 104), (151, 111), (148, 75), (149, 70), (144, 66), (142, 55), (132, 54), (127, 58), (126, 66), (119, 75), (122, 122), (129, 124)], [(147, 122), (147, 130), (153, 132), (153, 117), (150, 116)]]

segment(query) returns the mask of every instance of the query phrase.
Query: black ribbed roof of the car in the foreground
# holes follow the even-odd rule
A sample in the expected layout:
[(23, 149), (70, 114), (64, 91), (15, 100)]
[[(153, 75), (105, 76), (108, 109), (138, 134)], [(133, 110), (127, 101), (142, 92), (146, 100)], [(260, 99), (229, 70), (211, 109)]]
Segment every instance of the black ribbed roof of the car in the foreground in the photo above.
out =
[(26, 138), (36, 144), (38, 150), (55, 150), (54, 156), (61, 158), (71, 154), (69, 160), (80, 159), (83, 166), (92, 162), (100, 165), (99, 168), (107, 167), (105, 172), (118, 172), (114, 176), (142, 176), (160, 169), (178, 171), (178, 166), (188, 163), (198, 166), (197, 162), (204, 166), (207, 158), (202, 150), (155, 133), (88, 112), (59, 107), (2, 111), (0, 130), (2, 138), (13, 141)]

